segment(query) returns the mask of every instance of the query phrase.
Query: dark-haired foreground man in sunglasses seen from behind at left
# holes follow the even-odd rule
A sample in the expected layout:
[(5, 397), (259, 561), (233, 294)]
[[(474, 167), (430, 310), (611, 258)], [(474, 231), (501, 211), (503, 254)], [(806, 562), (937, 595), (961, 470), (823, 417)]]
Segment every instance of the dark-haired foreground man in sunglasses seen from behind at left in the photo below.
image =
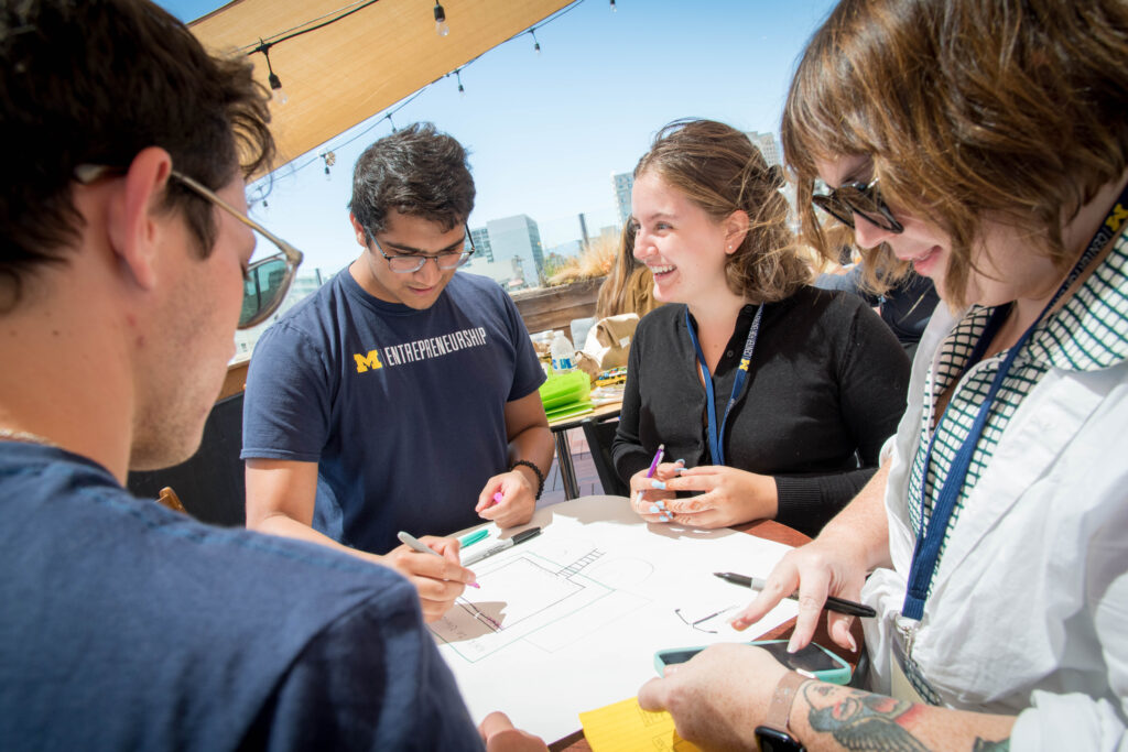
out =
[(301, 260), (250, 263), (266, 97), (144, 0), (0, 3), (2, 750), (482, 746), (403, 577), (123, 487)]

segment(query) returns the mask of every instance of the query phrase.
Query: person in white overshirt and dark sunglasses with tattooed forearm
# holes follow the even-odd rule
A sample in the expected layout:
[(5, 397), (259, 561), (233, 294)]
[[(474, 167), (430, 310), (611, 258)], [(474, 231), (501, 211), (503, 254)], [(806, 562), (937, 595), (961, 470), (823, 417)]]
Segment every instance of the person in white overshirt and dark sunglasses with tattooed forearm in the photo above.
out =
[(687, 738), (1128, 744), (1126, 69), (1122, 0), (843, 0), (814, 34), (782, 129), (804, 233), (852, 227), (945, 304), (879, 472), (734, 620), (797, 589), (799, 648), (864, 601), (873, 693), (705, 651), (640, 695)]

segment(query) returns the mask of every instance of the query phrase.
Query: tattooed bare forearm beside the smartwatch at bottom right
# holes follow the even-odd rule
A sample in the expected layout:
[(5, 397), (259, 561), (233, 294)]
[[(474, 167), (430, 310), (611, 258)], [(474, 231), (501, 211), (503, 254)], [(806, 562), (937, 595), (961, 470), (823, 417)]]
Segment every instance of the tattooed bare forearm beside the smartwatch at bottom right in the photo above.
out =
[(788, 725), (811, 752), (839, 750), (1008, 750), (1013, 716), (914, 705), (809, 681)]

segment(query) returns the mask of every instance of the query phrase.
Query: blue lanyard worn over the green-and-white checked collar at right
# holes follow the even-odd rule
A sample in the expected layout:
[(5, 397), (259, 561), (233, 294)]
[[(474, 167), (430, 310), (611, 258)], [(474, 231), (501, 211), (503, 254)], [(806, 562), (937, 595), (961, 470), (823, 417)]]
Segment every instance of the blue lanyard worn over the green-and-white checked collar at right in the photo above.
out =
[[(992, 381), (987, 396), (979, 406), (979, 412), (976, 414), (976, 419), (971, 424), (970, 431), (968, 431), (967, 439), (963, 440), (963, 443), (960, 445), (960, 450), (952, 459), (952, 466), (948, 470), (948, 476), (944, 478), (944, 485), (940, 489), (940, 496), (936, 498), (932, 516), (928, 520), (927, 529), (925, 529), (924, 489), (925, 483), (928, 478), (928, 465), (932, 462), (932, 450), (936, 443), (936, 436), (940, 435), (940, 424), (948, 417), (949, 410), (951, 409), (951, 402), (949, 402), (949, 406), (944, 409), (944, 414), (941, 415), (940, 421), (936, 422), (936, 428), (933, 432), (932, 441), (928, 442), (928, 452), (925, 454), (924, 469), (920, 474), (920, 527), (917, 531), (916, 547), (913, 549), (913, 564), (909, 567), (908, 590), (905, 592), (905, 604), (901, 607), (902, 616), (916, 620), (919, 620), (924, 616), (924, 602), (928, 596), (928, 587), (932, 584), (932, 578), (936, 573), (936, 566), (940, 563), (940, 548), (944, 542), (944, 536), (948, 531), (948, 524), (951, 521), (952, 512), (955, 511), (955, 503), (959, 501), (960, 490), (963, 488), (964, 481), (967, 480), (968, 469), (971, 466), (971, 457), (975, 454), (976, 445), (979, 443), (979, 439), (982, 435), (984, 426), (987, 425), (987, 417), (990, 415), (992, 404), (995, 401), (995, 397), (998, 395), (998, 390), (1003, 386), (1003, 381), (1006, 379), (1006, 374), (1011, 370), (1011, 365), (1014, 363), (1015, 356), (1017, 356), (1019, 351), (1021, 351), (1030, 340), (1030, 336), (1033, 334), (1034, 328), (1046, 317), (1046, 313), (1054, 308), (1061, 295), (1065, 294), (1065, 291), (1077, 281), (1081, 273), (1085, 271), (1090, 263), (1092, 263), (1093, 258), (1096, 257), (1098, 253), (1120, 229), (1120, 225), (1125, 220), (1123, 205), (1128, 205), (1128, 186), (1125, 187), (1120, 197), (1112, 205), (1112, 210), (1109, 212), (1104, 223), (1101, 224), (1100, 230), (1098, 230), (1096, 235), (1093, 236), (1093, 239), (1089, 241), (1089, 247), (1085, 249), (1085, 253), (1082, 254), (1077, 264), (1073, 267), (1073, 271), (1069, 272), (1069, 276), (1067, 276), (1065, 282), (1061, 283), (1061, 286), (1058, 287), (1054, 299), (1047, 303), (1046, 308), (1042, 309), (1042, 312), (1038, 316), (1034, 322), (1030, 325), (1030, 327), (1022, 334), (1022, 337), (1019, 338), (1019, 342), (1011, 347), (1010, 352), (1007, 352), (1006, 357), (1003, 360), (1003, 364), (999, 365), (998, 372)], [(987, 351), (987, 346), (990, 344), (990, 340), (995, 337), (995, 334), (1003, 325), (1003, 321), (1006, 319), (1006, 315), (1008, 312), (1008, 306), (1001, 306), (992, 313), (990, 320), (984, 328), (984, 333), (980, 335), (979, 342), (976, 343), (975, 350), (972, 350), (971, 355), (968, 359), (964, 373), (967, 373), (968, 370), (982, 359), (984, 353)]]

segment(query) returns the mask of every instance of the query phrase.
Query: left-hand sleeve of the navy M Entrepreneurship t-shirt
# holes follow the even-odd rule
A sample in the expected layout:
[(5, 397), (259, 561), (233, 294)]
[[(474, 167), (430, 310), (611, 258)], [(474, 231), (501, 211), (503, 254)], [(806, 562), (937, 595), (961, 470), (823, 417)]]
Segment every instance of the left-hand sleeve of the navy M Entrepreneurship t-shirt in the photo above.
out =
[(311, 338), (288, 322), (263, 335), (247, 371), (241, 459), (318, 461), (332, 409), (325, 368)]

